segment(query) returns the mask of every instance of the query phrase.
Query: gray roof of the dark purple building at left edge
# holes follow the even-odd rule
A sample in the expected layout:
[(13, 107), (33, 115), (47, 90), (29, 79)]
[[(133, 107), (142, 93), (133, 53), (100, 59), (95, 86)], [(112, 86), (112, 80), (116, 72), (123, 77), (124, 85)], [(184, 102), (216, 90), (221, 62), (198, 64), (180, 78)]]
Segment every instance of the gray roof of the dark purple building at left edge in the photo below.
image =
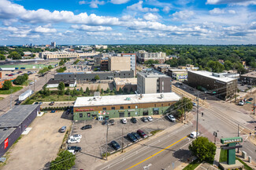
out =
[(0, 117), (0, 129), (19, 126), (39, 104), (19, 105), (13, 107)]

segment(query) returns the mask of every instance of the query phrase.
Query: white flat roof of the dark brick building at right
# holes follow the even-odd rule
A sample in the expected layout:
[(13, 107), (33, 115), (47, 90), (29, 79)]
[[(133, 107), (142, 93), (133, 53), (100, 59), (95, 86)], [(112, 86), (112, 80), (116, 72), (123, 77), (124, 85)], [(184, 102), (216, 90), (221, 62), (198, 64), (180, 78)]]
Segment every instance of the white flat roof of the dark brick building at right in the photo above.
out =
[[(188, 71), (194, 74), (198, 74), (198, 75), (202, 75), (206, 78), (213, 78), (217, 81), (223, 81), (223, 82), (229, 82), (229, 81), (234, 81), (236, 80), (236, 78), (228, 78), (228, 77), (224, 77), (223, 74), (217, 74), (217, 73), (213, 73), (210, 71)], [(213, 74), (215, 74), (216, 76), (213, 76)], [(217, 77), (217, 75), (219, 75), (220, 77)]]

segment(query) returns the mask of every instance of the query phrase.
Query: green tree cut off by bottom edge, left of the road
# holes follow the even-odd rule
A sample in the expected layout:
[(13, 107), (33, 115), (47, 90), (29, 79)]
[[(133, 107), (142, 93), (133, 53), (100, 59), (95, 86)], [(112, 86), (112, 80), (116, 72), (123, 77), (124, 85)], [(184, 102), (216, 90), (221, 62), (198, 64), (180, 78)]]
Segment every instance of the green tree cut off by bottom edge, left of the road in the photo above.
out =
[(70, 169), (75, 165), (76, 156), (68, 150), (62, 151), (54, 161), (50, 162), (50, 170)]

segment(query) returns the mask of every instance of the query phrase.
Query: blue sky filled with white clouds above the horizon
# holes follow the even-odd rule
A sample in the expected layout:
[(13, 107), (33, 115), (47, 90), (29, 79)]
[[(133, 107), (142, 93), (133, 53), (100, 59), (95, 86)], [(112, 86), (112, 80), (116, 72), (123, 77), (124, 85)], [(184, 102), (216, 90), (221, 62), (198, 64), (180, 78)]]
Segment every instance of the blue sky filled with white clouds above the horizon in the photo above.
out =
[(0, 0), (0, 45), (256, 44), (255, 0)]

